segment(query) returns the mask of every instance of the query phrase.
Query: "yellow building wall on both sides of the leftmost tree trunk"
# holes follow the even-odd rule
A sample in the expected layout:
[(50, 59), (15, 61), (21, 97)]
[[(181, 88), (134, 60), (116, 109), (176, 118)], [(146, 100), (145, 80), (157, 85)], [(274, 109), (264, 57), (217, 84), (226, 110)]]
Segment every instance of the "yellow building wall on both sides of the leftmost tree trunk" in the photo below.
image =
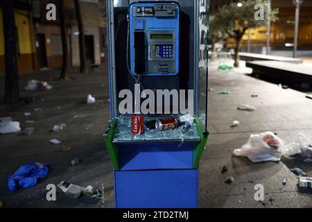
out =
[[(31, 24), (29, 22), (28, 13), (23, 10), (15, 10), (15, 24), (17, 25), (19, 53), (31, 54), (34, 53), (31, 40)], [(2, 11), (0, 10), (0, 56), (4, 55), (4, 40), (3, 40), (3, 21)]]

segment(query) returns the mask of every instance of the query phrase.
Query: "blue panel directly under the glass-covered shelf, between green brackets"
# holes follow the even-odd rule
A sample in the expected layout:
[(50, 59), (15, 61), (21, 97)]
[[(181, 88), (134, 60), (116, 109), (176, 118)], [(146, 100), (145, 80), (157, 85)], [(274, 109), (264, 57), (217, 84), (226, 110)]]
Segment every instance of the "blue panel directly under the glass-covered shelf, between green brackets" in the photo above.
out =
[(119, 145), (121, 170), (191, 169), (193, 144), (141, 143)]

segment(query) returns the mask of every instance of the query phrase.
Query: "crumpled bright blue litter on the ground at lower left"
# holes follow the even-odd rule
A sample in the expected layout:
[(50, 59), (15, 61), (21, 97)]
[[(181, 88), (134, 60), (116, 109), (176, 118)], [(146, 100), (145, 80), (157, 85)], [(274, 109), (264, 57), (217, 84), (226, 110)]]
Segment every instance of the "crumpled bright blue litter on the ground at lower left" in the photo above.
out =
[(41, 163), (24, 164), (8, 179), (8, 188), (15, 191), (20, 187), (28, 188), (37, 185), (37, 180), (45, 178), (49, 173)]

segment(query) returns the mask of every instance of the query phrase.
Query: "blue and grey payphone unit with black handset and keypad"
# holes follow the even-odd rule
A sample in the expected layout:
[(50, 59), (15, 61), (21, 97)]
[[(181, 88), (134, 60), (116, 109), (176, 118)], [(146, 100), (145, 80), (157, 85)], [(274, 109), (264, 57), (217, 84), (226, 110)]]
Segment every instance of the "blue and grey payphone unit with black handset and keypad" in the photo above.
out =
[(132, 3), (129, 10), (131, 74), (177, 75), (180, 6), (177, 3)]

